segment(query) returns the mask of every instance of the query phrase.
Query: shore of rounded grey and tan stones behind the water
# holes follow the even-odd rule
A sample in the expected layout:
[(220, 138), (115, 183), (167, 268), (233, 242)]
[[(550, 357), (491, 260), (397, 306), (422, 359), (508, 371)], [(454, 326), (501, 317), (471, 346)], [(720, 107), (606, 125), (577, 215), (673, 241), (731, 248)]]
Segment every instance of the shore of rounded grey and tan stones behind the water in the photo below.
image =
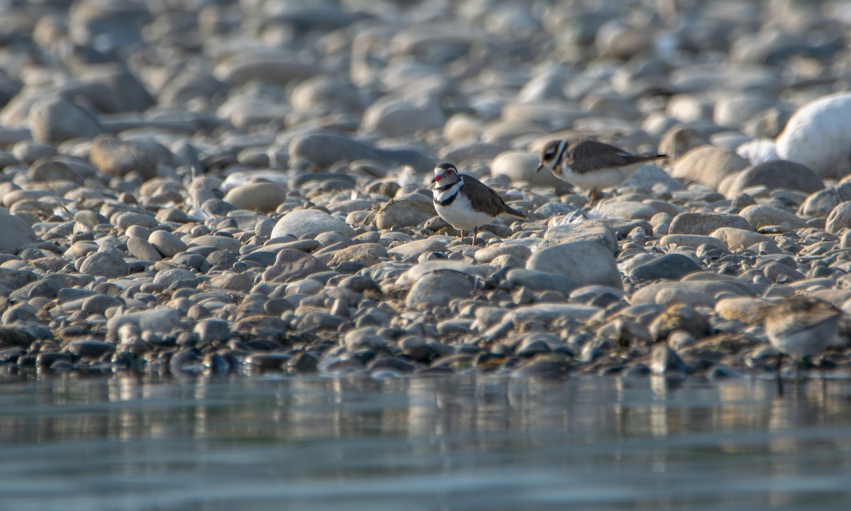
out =
[[(736, 378), (851, 312), (846, 3), (0, 3), (4, 375)], [(589, 211), (574, 135), (669, 158)]]

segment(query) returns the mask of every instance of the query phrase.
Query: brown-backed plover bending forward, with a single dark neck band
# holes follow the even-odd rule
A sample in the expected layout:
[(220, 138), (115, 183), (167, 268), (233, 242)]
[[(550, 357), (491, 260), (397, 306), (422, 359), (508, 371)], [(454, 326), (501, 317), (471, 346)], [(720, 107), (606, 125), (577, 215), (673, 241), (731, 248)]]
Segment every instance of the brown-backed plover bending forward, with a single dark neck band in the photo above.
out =
[(549, 168), (558, 179), (590, 190), (590, 205), (597, 190), (620, 185), (644, 163), (667, 155), (633, 155), (614, 145), (591, 139), (552, 140), (540, 152), (540, 172)]

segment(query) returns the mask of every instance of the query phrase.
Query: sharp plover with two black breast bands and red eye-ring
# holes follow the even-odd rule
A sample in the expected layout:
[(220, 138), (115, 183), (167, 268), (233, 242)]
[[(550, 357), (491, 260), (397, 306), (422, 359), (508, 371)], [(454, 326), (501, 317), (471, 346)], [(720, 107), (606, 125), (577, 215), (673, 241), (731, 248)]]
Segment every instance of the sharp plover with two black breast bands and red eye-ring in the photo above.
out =
[(491, 223), (502, 213), (525, 219), (526, 215), (505, 204), (500, 194), (469, 174), (458, 173), (452, 163), (438, 163), (431, 179), (432, 200), (440, 218), (454, 229), (472, 230), (471, 245), (476, 244), (478, 228)]

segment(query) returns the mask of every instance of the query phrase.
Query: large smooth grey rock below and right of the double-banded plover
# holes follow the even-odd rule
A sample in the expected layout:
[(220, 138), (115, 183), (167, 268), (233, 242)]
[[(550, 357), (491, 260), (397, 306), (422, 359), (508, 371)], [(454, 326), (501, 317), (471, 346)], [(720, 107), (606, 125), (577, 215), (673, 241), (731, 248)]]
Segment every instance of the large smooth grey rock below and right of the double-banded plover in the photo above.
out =
[(572, 241), (543, 248), (532, 254), (526, 269), (566, 275), (579, 286), (622, 287), (612, 251), (595, 241)]

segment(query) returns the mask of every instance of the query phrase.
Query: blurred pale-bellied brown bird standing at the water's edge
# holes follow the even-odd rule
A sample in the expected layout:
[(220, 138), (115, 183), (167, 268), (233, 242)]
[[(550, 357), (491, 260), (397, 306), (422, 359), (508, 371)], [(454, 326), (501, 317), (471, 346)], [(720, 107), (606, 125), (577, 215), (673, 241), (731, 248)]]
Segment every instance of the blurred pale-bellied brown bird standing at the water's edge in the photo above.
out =
[(842, 310), (819, 298), (802, 295), (768, 304), (763, 322), (768, 340), (779, 351), (777, 377), (783, 355), (791, 356), (799, 367), (804, 358), (821, 355), (839, 334)]

